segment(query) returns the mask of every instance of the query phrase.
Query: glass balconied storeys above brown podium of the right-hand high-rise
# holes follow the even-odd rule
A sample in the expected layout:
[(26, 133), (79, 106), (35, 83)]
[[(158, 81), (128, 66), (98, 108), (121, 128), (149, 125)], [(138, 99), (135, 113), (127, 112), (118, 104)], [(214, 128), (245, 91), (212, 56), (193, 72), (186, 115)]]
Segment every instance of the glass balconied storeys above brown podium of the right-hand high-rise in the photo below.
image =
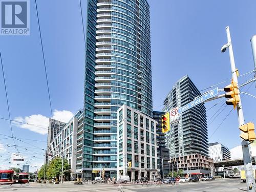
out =
[[(166, 96), (163, 111), (184, 106), (199, 95), (200, 91), (186, 75), (175, 83)], [(179, 123), (166, 134), (166, 144), (171, 159), (191, 154), (208, 156), (206, 109), (203, 103), (179, 114)]]

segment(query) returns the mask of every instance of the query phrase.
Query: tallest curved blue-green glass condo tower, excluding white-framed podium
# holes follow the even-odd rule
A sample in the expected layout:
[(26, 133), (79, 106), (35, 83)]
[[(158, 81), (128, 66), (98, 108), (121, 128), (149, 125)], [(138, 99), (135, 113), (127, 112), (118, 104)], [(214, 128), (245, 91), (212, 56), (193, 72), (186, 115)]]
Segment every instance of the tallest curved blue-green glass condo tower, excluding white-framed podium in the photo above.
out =
[(103, 169), (113, 177), (117, 110), (126, 104), (153, 115), (147, 1), (88, 0), (86, 40), (82, 177), (94, 178)]

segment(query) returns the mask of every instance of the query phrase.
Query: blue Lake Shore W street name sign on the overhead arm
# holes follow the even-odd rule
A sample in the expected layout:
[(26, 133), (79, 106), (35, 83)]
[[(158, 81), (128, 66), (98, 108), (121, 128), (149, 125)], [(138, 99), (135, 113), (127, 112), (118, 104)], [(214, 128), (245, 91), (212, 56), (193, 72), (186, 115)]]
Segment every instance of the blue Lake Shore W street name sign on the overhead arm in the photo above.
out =
[(190, 108), (193, 108), (193, 106), (196, 106), (202, 102), (204, 102), (205, 100), (211, 98), (211, 97), (214, 97), (218, 95), (218, 88), (215, 88), (214, 90), (211, 90), (205, 94), (203, 94), (202, 96), (196, 98), (194, 101), (191, 101), (190, 103), (184, 105), (184, 106), (181, 106), (179, 108), (179, 113), (182, 113)]

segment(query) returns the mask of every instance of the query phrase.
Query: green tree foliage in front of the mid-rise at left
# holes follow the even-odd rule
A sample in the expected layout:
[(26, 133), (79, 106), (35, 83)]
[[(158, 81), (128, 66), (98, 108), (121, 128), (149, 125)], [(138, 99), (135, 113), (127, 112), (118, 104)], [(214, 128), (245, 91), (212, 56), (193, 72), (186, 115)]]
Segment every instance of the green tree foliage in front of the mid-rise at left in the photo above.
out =
[[(53, 179), (54, 177), (56, 177), (57, 179), (59, 178), (59, 176), (61, 175), (61, 163), (62, 163), (62, 160), (60, 157), (57, 157), (52, 161), (50, 161), (50, 164), (46, 173), (47, 179)], [(70, 169), (70, 165), (68, 164), (68, 160), (65, 159), (63, 161), (63, 170), (68, 170), (68, 169)], [(69, 172), (63, 172), (63, 175), (65, 176), (67, 176), (68, 174)]]

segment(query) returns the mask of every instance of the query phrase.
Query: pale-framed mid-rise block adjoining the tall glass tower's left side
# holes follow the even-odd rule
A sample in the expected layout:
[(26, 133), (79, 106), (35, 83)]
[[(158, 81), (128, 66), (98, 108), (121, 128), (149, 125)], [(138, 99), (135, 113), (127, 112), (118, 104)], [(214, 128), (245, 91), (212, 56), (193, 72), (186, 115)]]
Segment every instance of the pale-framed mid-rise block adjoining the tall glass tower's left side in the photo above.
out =
[[(56, 157), (68, 160), (71, 166), (71, 177), (73, 179), (77, 177), (80, 178), (82, 173), (83, 135), (78, 135), (78, 132), (80, 132), (78, 130), (78, 122), (82, 117), (83, 112), (79, 111), (68, 123), (65, 123), (47, 147), (49, 162)], [(50, 119), (50, 123), (52, 121), (53, 119)]]

